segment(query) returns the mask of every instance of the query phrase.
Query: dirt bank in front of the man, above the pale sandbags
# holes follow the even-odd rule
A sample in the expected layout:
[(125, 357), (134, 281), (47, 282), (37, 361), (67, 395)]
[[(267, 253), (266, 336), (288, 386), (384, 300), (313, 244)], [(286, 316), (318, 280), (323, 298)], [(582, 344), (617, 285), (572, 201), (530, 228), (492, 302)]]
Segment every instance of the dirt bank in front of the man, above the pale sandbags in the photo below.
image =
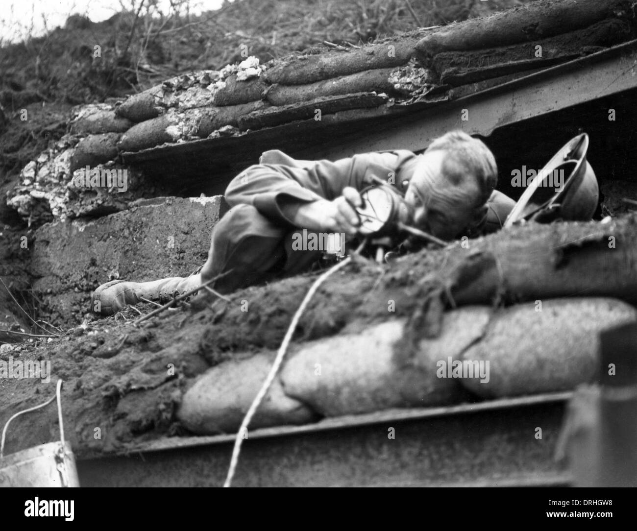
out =
[[(440, 334), (436, 322), (454, 303), (534, 301), (577, 294), (582, 286), (589, 288), (590, 296), (634, 298), (637, 277), (624, 264), (634, 263), (628, 257), (636, 223), (634, 216), (611, 225), (531, 223), (476, 240), (469, 251), (459, 245), (425, 250), (392, 267), (357, 260), (318, 290), (299, 322), (292, 349), (312, 339), (354, 334), (372, 323), (406, 317), (407, 329), (396, 348), (408, 358), (412, 345)], [(622, 242), (623, 250), (608, 247), (608, 234)], [(549, 279), (543, 293), (536, 278), (515, 274), (516, 264), (527, 256), (536, 260), (537, 274)], [(501, 265), (499, 280), (486, 267), (489, 257)], [(618, 264), (623, 273), (613, 274), (608, 283), (601, 271)], [(48, 338), (35, 348), (3, 348), (5, 361), (50, 361), (52, 378), (50, 383), (0, 378), (0, 393), (6, 397), (0, 423), (49, 397), (57, 378), (62, 378), (68, 436), (80, 456), (185, 434), (175, 414), (194, 378), (224, 360), (278, 348), (314, 278), (308, 274), (248, 288), (233, 294), (231, 302), (195, 301), (194, 311), (166, 311), (140, 327), (134, 327), (132, 318), (138, 315), (129, 309), (71, 329), (63, 337)], [(489, 287), (492, 281), (496, 283)], [(522, 290), (525, 282), (534, 285), (529, 293)], [(140, 308), (143, 313), (151, 309)], [(55, 418), (54, 411), (47, 410), (17, 421), (8, 451), (53, 439)]]

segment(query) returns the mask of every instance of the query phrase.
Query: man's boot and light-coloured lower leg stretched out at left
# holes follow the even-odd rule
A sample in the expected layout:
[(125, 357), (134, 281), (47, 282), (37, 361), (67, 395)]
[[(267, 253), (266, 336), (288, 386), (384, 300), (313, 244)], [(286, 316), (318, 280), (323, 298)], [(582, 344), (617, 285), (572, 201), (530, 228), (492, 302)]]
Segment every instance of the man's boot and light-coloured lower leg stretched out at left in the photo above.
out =
[(118, 311), (143, 302), (168, 302), (173, 297), (201, 285), (201, 275), (194, 274), (182, 277), (162, 278), (150, 282), (127, 282), (111, 280), (95, 290), (91, 297), (91, 309), (100, 315), (113, 315)]

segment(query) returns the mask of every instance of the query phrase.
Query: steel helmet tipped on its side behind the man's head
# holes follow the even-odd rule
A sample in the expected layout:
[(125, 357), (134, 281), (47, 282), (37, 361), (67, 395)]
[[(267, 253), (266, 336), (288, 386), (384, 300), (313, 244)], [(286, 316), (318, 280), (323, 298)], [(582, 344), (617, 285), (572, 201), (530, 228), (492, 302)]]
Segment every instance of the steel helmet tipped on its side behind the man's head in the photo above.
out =
[[(522, 197), (506, 218), (504, 227), (522, 220), (550, 223), (554, 220), (587, 221), (599, 201), (595, 172), (586, 160), (589, 136), (582, 133), (571, 139), (528, 183)], [(560, 189), (548, 187), (551, 176), (563, 171), (566, 178)], [(556, 172), (556, 173), (554, 173)]]

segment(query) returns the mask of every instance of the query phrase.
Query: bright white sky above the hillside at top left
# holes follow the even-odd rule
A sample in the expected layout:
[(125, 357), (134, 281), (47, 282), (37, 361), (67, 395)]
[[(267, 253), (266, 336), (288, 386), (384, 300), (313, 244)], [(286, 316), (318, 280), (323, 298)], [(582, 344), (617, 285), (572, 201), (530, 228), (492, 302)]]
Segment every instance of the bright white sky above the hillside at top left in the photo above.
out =
[[(0, 37), (2, 42), (16, 42), (29, 33), (37, 37), (56, 26), (64, 25), (66, 18), (73, 13), (87, 15), (93, 22), (110, 18), (124, 8), (139, 6), (141, 0), (0, 0)], [(144, 0), (157, 4), (167, 13), (170, 0)], [(173, 3), (186, 1), (190, 12), (199, 14), (220, 8), (223, 0), (173, 0)]]

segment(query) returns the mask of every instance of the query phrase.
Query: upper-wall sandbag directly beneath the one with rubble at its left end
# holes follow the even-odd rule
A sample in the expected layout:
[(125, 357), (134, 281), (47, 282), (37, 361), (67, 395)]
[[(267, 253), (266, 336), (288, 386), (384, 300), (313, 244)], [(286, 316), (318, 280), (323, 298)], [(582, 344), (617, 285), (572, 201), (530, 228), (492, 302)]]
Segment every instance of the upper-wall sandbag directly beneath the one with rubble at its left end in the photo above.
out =
[(318, 97), (355, 94), (357, 92), (393, 92), (389, 81), (391, 68), (366, 70), (306, 85), (272, 85), (266, 91), (266, 99), (273, 105), (289, 105), (311, 101)]

